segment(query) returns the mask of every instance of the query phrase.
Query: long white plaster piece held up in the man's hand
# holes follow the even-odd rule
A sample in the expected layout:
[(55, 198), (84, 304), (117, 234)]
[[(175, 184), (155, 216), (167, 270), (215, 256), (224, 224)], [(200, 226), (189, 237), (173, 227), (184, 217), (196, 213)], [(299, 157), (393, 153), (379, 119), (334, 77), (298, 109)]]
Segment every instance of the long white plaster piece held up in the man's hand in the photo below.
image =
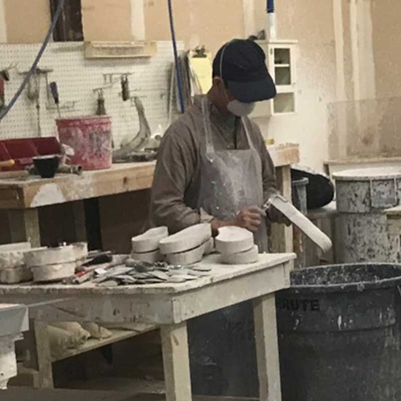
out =
[(276, 208), (291, 223), (298, 227), (311, 241), (313, 241), (323, 252), (328, 252), (332, 248), (330, 238), (319, 230), (307, 217), (305, 217), (291, 202), (284, 196), (275, 194), (270, 197), (264, 209)]

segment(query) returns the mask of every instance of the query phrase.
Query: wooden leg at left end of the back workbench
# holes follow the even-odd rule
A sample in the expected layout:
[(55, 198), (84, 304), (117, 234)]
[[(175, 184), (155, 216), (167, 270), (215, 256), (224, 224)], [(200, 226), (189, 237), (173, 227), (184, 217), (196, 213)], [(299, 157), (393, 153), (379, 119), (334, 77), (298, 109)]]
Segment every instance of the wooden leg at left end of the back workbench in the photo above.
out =
[(38, 209), (8, 211), (10, 239), (15, 242), (31, 242), (32, 247), (41, 246)]

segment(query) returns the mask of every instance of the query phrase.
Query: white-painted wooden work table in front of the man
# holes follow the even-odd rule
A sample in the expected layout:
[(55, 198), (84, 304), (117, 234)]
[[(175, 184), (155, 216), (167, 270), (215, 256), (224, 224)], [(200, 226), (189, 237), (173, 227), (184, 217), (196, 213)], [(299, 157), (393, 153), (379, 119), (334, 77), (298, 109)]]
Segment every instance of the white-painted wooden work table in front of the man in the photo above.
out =
[[(191, 399), (186, 321), (247, 300), (254, 301), (255, 334), (262, 401), (280, 401), (276, 291), (288, 288), (294, 254), (263, 254), (250, 265), (227, 266), (218, 255), (201, 262), (210, 276), (181, 284), (100, 287), (2, 285), (7, 302), (34, 305), (41, 321), (137, 322), (160, 326), (167, 401)], [(54, 303), (49, 303), (54, 301)], [(38, 306), (38, 303), (43, 303)]]

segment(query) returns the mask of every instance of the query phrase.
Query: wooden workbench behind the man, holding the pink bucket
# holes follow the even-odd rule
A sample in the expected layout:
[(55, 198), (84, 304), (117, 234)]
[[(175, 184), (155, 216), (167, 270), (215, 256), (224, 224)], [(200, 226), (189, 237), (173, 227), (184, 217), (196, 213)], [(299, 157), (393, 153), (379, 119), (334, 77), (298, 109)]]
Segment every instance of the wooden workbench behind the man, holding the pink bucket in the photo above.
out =
[[(276, 166), (279, 189), (291, 198), (290, 166), (299, 162), (299, 147), (286, 144), (268, 146), (268, 149)], [(47, 220), (47, 224), (55, 220), (51, 215), (40, 219), (40, 212), (62, 204), (68, 204), (70, 210), (60, 210), (57, 214), (65, 215), (65, 221), (54, 222), (54, 225), (63, 226), (64, 233), (68, 232), (68, 225), (72, 225), (73, 240), (85, 241), (83, 200), (99, 198), (104, 248), (127, 252), (119, 248), (119, 244), (125, 241), (129, 245), (129, 238), (138, 234), (135, 231), (143, 223), (135, 225), (135, 220), (147, 217), (146, 194), (152, 185), (154, 167), (155, 162), (114, 164), (108, 170), (87, 171), (82, 176), (58, 174), (53, 179), (32, 177), (25, 172), (0, 173), (0, 212), (5, 221), (2, 224), (0, 216), (0, 225), (8, 227), (8, 233), (3, 233), (8, 234), (8, 238), (3, 242), (31, 241), (33, 246), (40, 246), (44, 242), (40, 220)], [(144, 190), (147, 190), (145, 194)], [(131, 194), (131, 197), (124, 198), (123, 194)], [(292, 230), (275, 227), (273, 232), (273, 249), (292, 252)], [(0, 243), (2, 239), (0, 235)]]

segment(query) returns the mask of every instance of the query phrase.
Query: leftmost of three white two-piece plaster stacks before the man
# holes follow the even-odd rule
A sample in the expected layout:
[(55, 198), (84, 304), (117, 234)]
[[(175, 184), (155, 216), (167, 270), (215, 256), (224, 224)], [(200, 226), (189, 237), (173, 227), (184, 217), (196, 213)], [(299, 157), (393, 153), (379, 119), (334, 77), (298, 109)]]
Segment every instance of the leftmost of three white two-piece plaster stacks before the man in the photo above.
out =
[(156, 227), (146, 233), (133, 237), (131, 258), (140, 262), (163, 262), (164, 256), (160, 253), (160, 241), (168, 237), (167, 227)]

